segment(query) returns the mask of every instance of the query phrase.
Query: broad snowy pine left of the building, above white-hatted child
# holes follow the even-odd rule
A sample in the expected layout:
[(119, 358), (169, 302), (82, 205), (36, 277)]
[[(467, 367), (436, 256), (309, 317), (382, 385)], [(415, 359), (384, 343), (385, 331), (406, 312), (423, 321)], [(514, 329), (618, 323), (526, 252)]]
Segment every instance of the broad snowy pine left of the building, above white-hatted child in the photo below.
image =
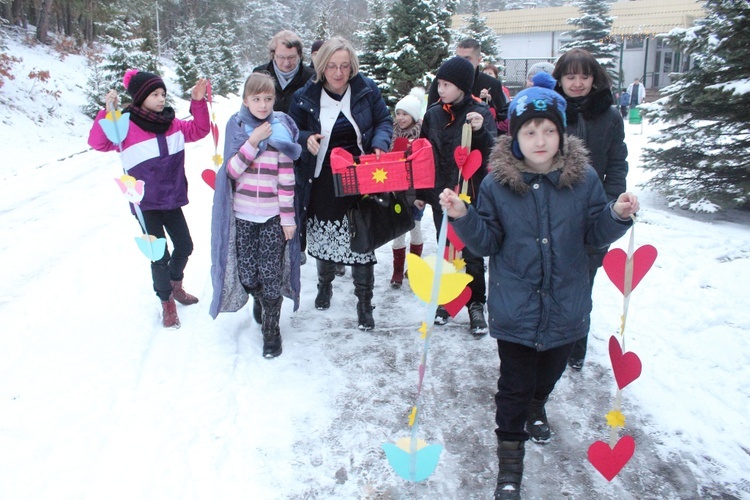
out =
[(449, 55), (451, 0), (399, 0), (389, 12), (385, 61), (390, 63), (387, 102), (396, 101), (415, 86), (428, 88), (431, 73)]

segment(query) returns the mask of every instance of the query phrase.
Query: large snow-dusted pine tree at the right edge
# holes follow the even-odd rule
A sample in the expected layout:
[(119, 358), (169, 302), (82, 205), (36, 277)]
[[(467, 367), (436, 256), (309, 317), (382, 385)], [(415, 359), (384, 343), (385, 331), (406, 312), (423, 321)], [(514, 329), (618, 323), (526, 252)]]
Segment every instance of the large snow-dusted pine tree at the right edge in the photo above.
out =
[[(672, 75), (646, 116), (667, 124), (644, 150), (648, 185), (673, 204), (714, 211), (750, 204), (750, 4), (708, 0), (708, 17), (669, 42), (692, 67)], [(679, 69), (679, 65), (677, 65)]]

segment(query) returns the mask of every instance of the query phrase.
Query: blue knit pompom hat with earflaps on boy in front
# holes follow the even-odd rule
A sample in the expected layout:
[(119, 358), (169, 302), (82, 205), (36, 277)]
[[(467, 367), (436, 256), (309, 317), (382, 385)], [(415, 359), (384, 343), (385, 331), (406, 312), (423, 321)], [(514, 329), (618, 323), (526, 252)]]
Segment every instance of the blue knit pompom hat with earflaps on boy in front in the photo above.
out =
[(563, 139), (567, 122), (565, 120), (565, 98), (555, 92), (557, 80), (549, 73), (540, 72), (531, 80), (533, 87), (519, 92), (508, 106), (508, 132), (513, 137), (513, 156), (523, 159), (518, 147), (518, 131), (521, 126), (534, 118), (546, 118), (557, 126), (560, 133), (560, 152), (563, 150)]

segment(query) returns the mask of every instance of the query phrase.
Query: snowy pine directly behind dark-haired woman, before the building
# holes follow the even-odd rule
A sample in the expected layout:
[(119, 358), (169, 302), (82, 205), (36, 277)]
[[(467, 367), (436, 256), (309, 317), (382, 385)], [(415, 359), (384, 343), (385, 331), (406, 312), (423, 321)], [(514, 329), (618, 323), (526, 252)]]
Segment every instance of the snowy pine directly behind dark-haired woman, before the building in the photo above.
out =
[(613, 81), (618, 81), (615, 61), (618, 46), (610, 37), (614, 18), (609, 15), (610, 6), (606, 0), (580, 0), (574, 2), (581, 17), (568, 19), (568, 24), (578, 29), (564, 33), (575, 40), (560, 47), (560, 52), (570, 49), (585, 49), (604, 66)]

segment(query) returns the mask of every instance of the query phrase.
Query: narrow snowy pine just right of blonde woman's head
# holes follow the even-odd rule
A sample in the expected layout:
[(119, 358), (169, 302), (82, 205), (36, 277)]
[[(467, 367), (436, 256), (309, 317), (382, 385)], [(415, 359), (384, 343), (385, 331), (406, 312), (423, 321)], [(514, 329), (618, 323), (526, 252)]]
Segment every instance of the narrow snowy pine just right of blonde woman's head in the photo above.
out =
[(390, 69), (385, 60), (385, 50), (388, 44), (385, 1), (370, 0), (368, 9), (369, 20), (363, 23), (362, 29), (357, 32), (357, 36), (364, 45), (364, 50), (359, 56), (359, 68), (363, 74), (375, 80), (380, 92), (386, 95), (390, 92), (387, 83)]

